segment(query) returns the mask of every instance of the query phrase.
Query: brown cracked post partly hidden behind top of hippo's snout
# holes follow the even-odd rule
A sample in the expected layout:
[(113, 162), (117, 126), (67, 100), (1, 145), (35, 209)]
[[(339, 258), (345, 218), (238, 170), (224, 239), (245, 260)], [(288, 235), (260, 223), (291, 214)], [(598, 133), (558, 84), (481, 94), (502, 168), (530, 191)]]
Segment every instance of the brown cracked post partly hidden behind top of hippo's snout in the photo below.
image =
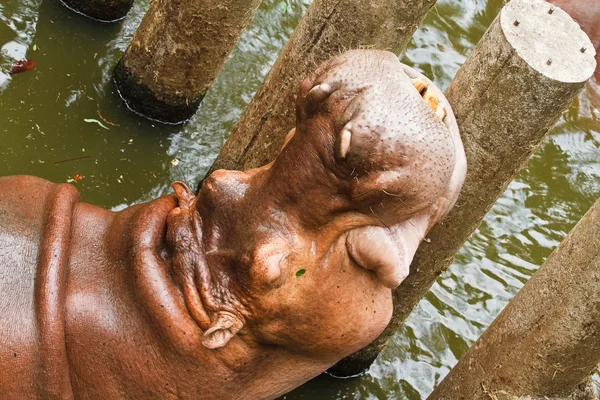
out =
[(314, 0), (212, 166), (271, 162), (296, 121), (302, 80), (323, 61), (360, 47), (399, 54), (435, 0)]

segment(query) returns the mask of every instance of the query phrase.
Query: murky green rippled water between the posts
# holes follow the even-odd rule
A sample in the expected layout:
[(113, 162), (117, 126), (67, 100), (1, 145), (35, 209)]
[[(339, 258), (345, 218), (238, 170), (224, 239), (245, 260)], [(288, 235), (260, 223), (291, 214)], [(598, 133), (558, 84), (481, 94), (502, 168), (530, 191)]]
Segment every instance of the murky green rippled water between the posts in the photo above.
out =
[[(195, 185), (309, 3), (265, 0), (198, 114), (173, 127), (129, 112), (111, 81), (147, 0), (116, 24), (58, 0), (0, 0), (0, 175), (80, 174), (84, 200), (114, 209), (173, 180)], [(403, 61), (447, 87), (502, 3), (439, 0)], [(35, 69), (9, 77), (22, 58)], [(118, 126), (85, 122), (99, 114)], [(600, 196), (599, 121), (582, 93), (366, 376), (320, 377), (284, 398), (426, 398)]]

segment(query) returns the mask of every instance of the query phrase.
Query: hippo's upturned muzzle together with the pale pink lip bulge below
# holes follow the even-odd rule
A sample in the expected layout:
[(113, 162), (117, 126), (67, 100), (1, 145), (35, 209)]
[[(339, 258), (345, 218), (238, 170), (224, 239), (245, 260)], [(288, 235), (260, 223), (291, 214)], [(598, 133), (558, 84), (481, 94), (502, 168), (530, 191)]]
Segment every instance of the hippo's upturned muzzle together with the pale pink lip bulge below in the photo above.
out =
[(447, 99), (393, 53), (354, 50), (304, 80), (296, 110), (294, 138), (275, 166), (300, 197), (323, 199), (300, 214), (303, 224), (334, 226), (354, 264), (399, 285), (465, 178)]

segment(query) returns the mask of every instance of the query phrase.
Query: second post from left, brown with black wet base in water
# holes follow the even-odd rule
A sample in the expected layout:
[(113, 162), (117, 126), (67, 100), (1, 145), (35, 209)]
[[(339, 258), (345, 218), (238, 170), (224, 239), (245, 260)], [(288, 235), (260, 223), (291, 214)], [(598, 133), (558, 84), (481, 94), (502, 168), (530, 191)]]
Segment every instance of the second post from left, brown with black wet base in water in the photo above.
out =
[(169, 123), (192, 117), (260, 2), (152, 1), (115, 69), (129, 108)]

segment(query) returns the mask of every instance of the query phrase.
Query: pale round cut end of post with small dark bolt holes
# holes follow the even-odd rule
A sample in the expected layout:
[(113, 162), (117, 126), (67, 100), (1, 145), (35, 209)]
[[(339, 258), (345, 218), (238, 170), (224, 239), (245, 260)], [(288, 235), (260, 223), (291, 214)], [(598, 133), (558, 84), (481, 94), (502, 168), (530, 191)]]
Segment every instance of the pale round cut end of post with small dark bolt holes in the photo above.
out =
[[(545, 0), (513, 0), (500, 13), (506, 40), (542, 75), (581, 83), (596, 69), (594, 46), (579, 25)], [(588, 49), (582, 52), (581, 49)]]

